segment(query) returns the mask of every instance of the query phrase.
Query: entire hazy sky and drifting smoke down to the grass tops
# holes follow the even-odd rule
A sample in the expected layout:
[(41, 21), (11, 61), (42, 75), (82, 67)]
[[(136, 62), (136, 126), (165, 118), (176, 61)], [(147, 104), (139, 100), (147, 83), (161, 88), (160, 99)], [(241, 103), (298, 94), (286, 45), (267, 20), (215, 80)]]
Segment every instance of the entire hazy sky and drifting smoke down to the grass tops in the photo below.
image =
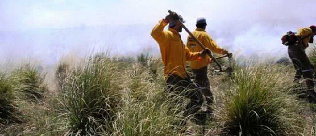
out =
[[(204, 16), (210, 35), (236, 54), (284, 54), (280, 36), (315, 25), (315, 6), (315, 0), (0, 0), (0, 56), (23, 53), (58, 60), (72, 49), (158, 50), (149, 34), (168, 9), (181, 14), (190, 30)], [(184, 41), (186, 36), (182, 32)], [(56, 48), (62, 50), (59, 55), (52, 51)]]

